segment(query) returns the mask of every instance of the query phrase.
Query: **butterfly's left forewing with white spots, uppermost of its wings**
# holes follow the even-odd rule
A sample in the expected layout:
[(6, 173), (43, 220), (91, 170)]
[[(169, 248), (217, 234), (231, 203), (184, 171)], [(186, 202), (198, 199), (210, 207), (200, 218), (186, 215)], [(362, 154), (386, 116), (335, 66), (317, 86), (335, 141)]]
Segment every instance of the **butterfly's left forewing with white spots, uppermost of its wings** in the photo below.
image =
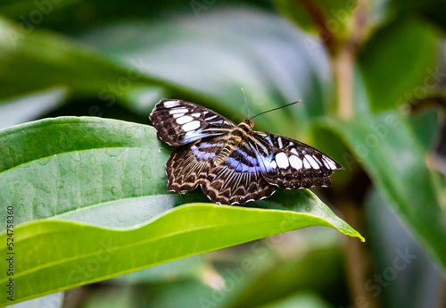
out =
[(157, 136), (170, 146), (181, 146), (203, 137), (227, 134), (235, 124), (198, 104), (161, 99), (149, 117)]

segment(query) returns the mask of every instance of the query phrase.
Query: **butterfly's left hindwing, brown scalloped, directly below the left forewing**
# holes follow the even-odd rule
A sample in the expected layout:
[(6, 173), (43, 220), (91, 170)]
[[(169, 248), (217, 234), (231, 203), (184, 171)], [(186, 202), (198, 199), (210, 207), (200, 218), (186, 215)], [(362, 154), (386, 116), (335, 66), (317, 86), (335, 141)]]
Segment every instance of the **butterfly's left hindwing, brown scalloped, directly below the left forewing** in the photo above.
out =
[(194, 190), (206, 178), (211, 162), (225, 142), (225, 137), (211, 137), (178, 146), (166, 164), (168, 189), (177, 193)]

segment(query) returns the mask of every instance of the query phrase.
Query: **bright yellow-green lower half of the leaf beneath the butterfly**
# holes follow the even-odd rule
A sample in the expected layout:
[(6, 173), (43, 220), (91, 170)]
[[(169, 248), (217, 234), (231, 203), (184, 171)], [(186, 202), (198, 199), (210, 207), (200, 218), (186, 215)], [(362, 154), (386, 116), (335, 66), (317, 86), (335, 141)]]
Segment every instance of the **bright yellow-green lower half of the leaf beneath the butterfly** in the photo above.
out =
[[(316, 207), (324, 206), (319, 203)], [(21, 256), (14, 268), (15, 301), (312, 225), (339, 228), (360, 237), (353, 229), (334, 224), (333, 218), (333, 214), (318, 217), (302, 212), (187, 204), (164, 212), (137, 229), (31, 221), (14, 229), (14, 252)], [(6, 237), (6, 233), (1, 234), (0, 241), (6, 242)], [(5, 246), (0, 253), (6, 255)], [(4, 285), (7, 279), (0, 279), (0, 283)], [(37, 283), (42, 279), (45, 284)], [(8, 304), (5, 298), (0, 301)]]

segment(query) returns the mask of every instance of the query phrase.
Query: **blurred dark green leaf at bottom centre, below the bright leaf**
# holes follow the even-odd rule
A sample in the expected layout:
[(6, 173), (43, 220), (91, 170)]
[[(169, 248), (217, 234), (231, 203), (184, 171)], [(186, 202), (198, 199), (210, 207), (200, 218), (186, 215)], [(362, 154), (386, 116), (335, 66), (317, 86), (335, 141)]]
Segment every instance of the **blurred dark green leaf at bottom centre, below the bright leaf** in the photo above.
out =
[[(243, 283), (237, 271), (240, 267), (228, 271), (232, 273), (231, 279), (239, 282), (240, 286), (225, 298), (221, 307), (257, 307), (283, 299), (300, 289), (315, 290), (331, 302), (336, 301), (337, 296), (346, 293), (346, 286), (340, 282), (345, 279), (340, 246), (332, 242), (325, 247), (307, 249), (309, 251), (295, 252), (260, 264), (263, 266), (257, 266), (250, 275), (246, 274)], [(260, 244), (252, 250), (264, 257), (268, 254), (268, 245)], [(274, 251), (270, 253), (277, 254)]]

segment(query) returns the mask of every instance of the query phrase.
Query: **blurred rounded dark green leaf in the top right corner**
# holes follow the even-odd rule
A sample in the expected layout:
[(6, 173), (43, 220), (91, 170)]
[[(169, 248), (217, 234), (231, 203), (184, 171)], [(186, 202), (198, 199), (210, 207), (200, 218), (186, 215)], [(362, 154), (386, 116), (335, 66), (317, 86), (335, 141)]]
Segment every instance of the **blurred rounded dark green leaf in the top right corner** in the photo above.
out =
[(439, 85), (437, 38), (433, 27), (416, 18), (399, 19), (375, 32), (359, 53), (373, 111), (398, 109)]

